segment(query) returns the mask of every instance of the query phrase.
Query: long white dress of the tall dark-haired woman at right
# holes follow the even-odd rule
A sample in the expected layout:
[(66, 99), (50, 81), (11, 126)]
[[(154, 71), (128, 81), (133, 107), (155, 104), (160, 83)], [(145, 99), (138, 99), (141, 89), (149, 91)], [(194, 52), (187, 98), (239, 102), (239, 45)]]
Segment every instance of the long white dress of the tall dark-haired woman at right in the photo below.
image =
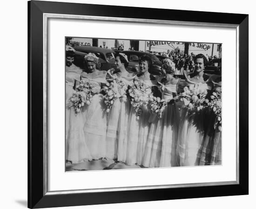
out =
[[(189, 89), (197, 88), (201, 92), (212, 89), (210, 79), (198, 82), (187, 77), (187, 82)], [(204, 111), (189, 114), (186, 108), (182, 108), (177, 144), (177, 160), (180, 166), (200, 165), (206, 123)]]

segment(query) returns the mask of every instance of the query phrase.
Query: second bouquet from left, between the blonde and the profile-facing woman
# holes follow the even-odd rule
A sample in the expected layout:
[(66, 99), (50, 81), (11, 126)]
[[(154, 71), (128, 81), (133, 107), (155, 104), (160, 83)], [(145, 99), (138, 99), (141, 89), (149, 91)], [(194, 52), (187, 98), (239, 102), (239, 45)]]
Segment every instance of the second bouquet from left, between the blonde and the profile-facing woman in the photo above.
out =
[(118, 98), (118, 88), (116, 85), (116, 81), (112, 80), (111, 82), (107, 82), (106, 86), (104, 86), (103, 91), (106, 95), (103, 96), (104, 103), (107, 105), (106, 112), (108, 113), (114, 104), (116, 98)]

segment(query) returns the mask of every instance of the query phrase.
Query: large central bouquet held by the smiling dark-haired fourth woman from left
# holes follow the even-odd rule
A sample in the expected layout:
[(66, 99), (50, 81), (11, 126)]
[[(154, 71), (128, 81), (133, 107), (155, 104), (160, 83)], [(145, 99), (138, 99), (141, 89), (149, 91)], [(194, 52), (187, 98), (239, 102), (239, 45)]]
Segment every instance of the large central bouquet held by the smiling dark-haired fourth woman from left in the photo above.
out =
[(152, 95), (151, 89), (142, 81), (135, 81), (131, 89), (128, 90), (131, 97), (131, 105), (135, 108), (137, 119), (142, 113), (142, 105), (148, 104), (149, 95)]

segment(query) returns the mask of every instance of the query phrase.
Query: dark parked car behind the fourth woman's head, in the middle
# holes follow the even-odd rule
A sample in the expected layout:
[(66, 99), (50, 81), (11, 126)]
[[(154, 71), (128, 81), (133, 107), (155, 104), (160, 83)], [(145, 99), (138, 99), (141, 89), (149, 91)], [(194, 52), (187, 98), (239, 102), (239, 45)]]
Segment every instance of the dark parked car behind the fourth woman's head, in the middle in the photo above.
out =
[(148, 72), (154, 75), (161, 75), (161, 66), (162, 62), (154, 55), (148, 52), (142, 51), (121, 51), (128, 57), (129, 65), (127, 70), (133, 73), (140, 73), (141, 69), (139, 66), (140, 57), (143, 55), (147, 55), (151, 58), (152, 66), (149, 68)]

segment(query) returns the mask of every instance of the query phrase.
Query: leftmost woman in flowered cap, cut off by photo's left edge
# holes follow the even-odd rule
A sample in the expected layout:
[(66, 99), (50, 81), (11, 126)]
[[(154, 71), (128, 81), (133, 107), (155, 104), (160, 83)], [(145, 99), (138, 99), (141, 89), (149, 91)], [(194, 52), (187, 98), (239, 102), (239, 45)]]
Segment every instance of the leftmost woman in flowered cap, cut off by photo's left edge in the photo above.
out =
[(80, 80), (82, 72), (73, 62), (74, 49), (66, 46), (66, 160), (74, 164), (92, 158), (84, 140), (81, 112), (75, 114), (74, 108), (70, 107), (69, 100), (74, 93), (74, 82)]

